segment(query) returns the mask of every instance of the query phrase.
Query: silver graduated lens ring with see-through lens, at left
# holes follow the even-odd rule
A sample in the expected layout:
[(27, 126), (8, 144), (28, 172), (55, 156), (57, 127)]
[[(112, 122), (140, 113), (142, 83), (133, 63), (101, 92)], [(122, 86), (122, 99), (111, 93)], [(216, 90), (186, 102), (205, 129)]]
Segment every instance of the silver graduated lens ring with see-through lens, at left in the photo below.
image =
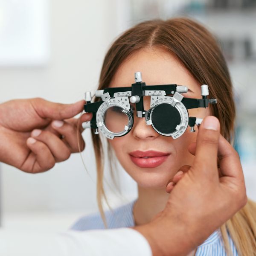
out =
[[(106, 116), (111, 121), (107, 122)], [(111, 98), (102, 103), (96, 113), (96, 124), (99, 131), (111, 140), (114, 137), (121, 137), (127, 134), (131, 130), (133, 122), (133, 111), (130, 108), (128, 97)], [(111, 124), (112, 129), (108, 124)]]

